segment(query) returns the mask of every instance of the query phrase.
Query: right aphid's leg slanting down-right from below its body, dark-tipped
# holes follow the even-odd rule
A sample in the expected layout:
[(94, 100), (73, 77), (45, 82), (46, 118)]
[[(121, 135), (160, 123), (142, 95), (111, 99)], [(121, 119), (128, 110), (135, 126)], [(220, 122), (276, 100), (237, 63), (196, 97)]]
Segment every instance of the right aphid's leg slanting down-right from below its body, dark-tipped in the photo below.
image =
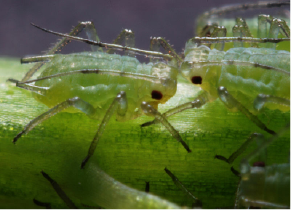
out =
[(259, 128), (262, 130), (274, 135), (276, 134), (274, 131), (267, 128), (267, 126), (259, 120), (257, 116), (252, 114), (247, 108), (245, 108), (239, 101), (237, 101), (228, 91), (225, 87), (220, 86), (217, 89), (218, 95), (220, 100), (230, 109), (236, 108), (240, 112), (242, 112), (244, 115), (246, 115), (247, 118), (249, 118), (253, 123), (255, 123)]

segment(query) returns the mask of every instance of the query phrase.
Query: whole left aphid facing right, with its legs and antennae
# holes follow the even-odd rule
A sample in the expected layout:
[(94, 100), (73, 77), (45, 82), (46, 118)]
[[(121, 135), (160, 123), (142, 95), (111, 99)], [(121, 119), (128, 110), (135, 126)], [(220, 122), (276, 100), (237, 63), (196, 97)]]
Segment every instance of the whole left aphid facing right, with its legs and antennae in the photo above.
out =
[[(93, 40), (70, 36), (80, 32), (82, 28), (87, 29), (89, 38)], [(42, 30), (55, 33), (46, 29)], [(60, 35), (59, 33), (55, 34)], [(9, 81), (15, 82), (18, 87), (32, 91), (33, 96), (38, 101), (52, 107), (28, 123), (24, 130), (14, 138), (14, 143), (42, 121), (67, 109), (66, 111), (73, 113), (81, 111), (93, 119), (103, 118), (91, 143), (88, 155), (82, 162), (82, 168), (93, 155), (109, 119), (115, 112), (119, 121), (134, 119), (143, 113), (156, 117), (188, 152), (191, 151), (178, 131), (157, 111), (158, 104), (165, 103), (176, 92), (178, 70), (173, 56), (133, 48), (134, 37), (132, 33), (128, 35), (128, 33), (123, 32), (114, 44), (99, 42), (91, 22), (80, 23), (70, 35), (63, 35), (65, 38), (57, 43), (47, 55), (22, 59), (23, 63), (37, 62), (37, 64), (21, 82), (9, 79)], [(124, 47), (118, 44), (122, 37), (127, 40), (128, 46)], [(92, 45), (95, 51), (68, 55), (53, 54), (70, 39), (85, 40)], [(152, 56), (155, 60), (162, 57), (172, 61), (168, 64), (165, 62), (142, 64), (132, 56), (105, 53), (101, 49), (96, 49), (96, 46), (108, 48), (109, 51), (112, 49), (124, 50), (129, 55), (141, 53)], [(155, 47), (156, 44), (152, 42), (152, 48)], [(169, 49), (171, 48), (169, 47)], [(47, 63), (45, 63), (41, 75), (37, 79), (29, 80), (44, 62)]]

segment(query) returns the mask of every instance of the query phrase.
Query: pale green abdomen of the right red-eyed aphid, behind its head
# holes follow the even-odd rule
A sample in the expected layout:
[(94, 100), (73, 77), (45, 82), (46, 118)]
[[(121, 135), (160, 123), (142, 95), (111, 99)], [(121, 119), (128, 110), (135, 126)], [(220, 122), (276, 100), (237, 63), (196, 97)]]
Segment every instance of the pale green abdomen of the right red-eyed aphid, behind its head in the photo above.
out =
[[(245, 61), (250, 62), (251, 65), (222, 66), (218, 86), (227, 87), (229, 92), (247, 107), (250, 107), (248, 104), (253, 103), (258, 94), (291, 98), (290, 59), (291, 53), (287, 51), (269, 48), (233, 48), (226, 52), (224, 60)], [(279, 68), (285, 73), (274, 69), (263, 69), (256, 64)], [(272, 103), (267, 104), (267, 107), (285, 109)]]

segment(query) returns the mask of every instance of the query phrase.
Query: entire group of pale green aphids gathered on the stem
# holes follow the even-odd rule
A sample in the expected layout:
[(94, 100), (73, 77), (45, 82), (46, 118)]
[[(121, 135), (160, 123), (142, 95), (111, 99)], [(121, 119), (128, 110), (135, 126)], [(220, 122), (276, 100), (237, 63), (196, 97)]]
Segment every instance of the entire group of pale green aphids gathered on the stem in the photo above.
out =
[[(142, 114), (155, 117), (154, 121), (142, 126), (162, 123), (186, 151), (191, 152), (191, 148), (168, 122), (167, 117), (186, 109), (200, 108), (208, 102), (220, 99), (228, 109), (242, 112), (257, 127), (272, 135), (265, 141), (267, 143), (263, 143), (250, 157), (242, 161), (241, 172), (237, 173), (241, 176), (241, 182), (235, 207), (237, 208), (239, 205), (275, 209), (290, 207), (291, 203), (285, 197), (281, 199), (281, 194), (273, 196), (274, 192), (271, 192), (273, 185), (270, 187), (270, 192), (268, 191), (266, 194), (269, 193), (270, 197), (273, 196), (274, 199), (256, 197), (259, 193), (252, 191), (253, 186), (257, 186), (256, 180), (263, 179), (261, 177), (267, 177), (263, 179), (262, 185), (269, 184), (268, 177), (271, 177), (269, 173), (278, 174), (278, 176), (282, 176), (283, 180), (286, 179), (281, 182), (278, 180), (279, 178), (275, 177), (274, 183), (271, 183), (274, 184), (274, 187), (279, 186), (283, 190), (285, 183), (290, 188), (289, 174), (286, 172), (290, 168), (289, 164), (259, 169), (257, 166), (250, 167), (248, 161), (290, 127), (288, 125), (277, 134), (277, 131), (268, 128), (257, 117), (257, 114), (263, 107), (279, 109), (282, 112), (291, 109), (289, 100), (291, 98), (291, 53), (276, 49), (277, 43), (291, 41), (291, 31), (284, 20), (268, 15), (258, 17), (257, 38), (252, 36), (246, 21), (242, 18), (236, 19), (236, 25), (232, 29), (233, 37), (226, 37), (225, 27), (211, 22), (214, 15), (236, 9), (284, 5), (291, 5), (291, 2), (259, 2), (213, 9), (204, 13), (199, 18), (200, 21), (203, 20), (201, 22), (204, 25), (199, 26), (200, 36), (187, 41), (184, 57), (179, 56), (162, 38), (151, 39), (150, 51), (134, 48), (134, 35), (129, 30), (124, 30), (113, 44), (107, 44), (99, 41), (91, 22), (80, 23), (68, 35), (33, 24), (35, 27), (61, 36), (63, 39), (46, 55), (22, 59), (23, 63), (36, 62), (22, 81), (9, 79), (18, 87), (32, 91), (38, 101), (51, 107), (49, 111), (28, 123), (24, 130), (14, 138), (14, 143), (21, 135), (27, 134), (47, 118), (66, 109), (69, 112), (76, 112), (78, 109), (93, 119), (102, 119), (88, 154), (81, 164), (82, 168), (93, 155), (99, 139), (102, 139), (102, 134), (106, 131), (105, 127), (114, 113), (119, 121), (131, 120)], [(76, 36), (83, 29), (86, 30), (88, 39)], [(54, 54), (69, 40), (90, 44), (93, 51), (69, 55)], [(125, 40), (125, 46), (121, 45), (123, 40)], [(234, 46), (225, 50), (227, 42), (234, 43)], [(244, 47), (244, 43), (248, 43), (249, 47)], [(163, 47), (169, 54), (158, 52), (160, 47)], [(108, 50), (104, 52), (104, 48)], [(113, 50), (125, 51), (126, 55), (113, 54)], [(136, 54), (151, 57), (151, 62), (140, 63), (132, 56)], [(37, 79), (31, 79), (42, 66), (44, 70), (41, 75)], [(176, 93), (177, 74), (179, 73), (192, 84), (201, 87), (202, 91), (192, 102), (160, 114), (157, 111), (158, 105), (166, 103)], [(260, 135), (253, 134), (249, 140), (253, 141), (258, 136)], [(242, 145), (242, 148), (230, 158), (221, 155), (216, 157), (232, 163), (248, 143)], [(187, 190), (171, 171), (167, 168), (165, 171), (174, 183), (193, 200), (194, 207), (201, 207), (201, 201)], [(233, 171), (235, 172), (234, 169)], [(71, 209), (77, 209), (59, 185), (48, 174), (44, 172), (42, 174), (65, 203)], [(258, 188), (261, 189), (262, 186), (258, 186)], [(147, 182), (146, 191), (150, 191), (149, 189), (150, 184)], [(286, 194), (291, 195), (289, 191)], [(41, 205), (40, 201), (35, 200), (34, 202)]]

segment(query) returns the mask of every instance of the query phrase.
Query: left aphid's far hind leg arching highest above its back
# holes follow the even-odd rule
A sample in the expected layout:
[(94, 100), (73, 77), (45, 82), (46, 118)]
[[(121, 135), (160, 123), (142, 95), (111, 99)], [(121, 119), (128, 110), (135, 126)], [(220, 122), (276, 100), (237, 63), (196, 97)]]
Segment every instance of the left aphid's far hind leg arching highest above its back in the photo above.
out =
[[(89, 39), (99, 41), (97, 36), (96, 29), (92, 22), (80, 22), (73, 30), (69, 33), (71, 36), (76, 36), (85, 28), (86, 34)], [(64, 46), (66, 46), (71, 40), (68, 38), (63, 38), (59, 42), (57, 42), (50, 50), (48, 50), (45, 55), (52, 55), (55, 54), (57, 51), (60, 51)], [(91, 46), (92, 50), (97, 50), (96, 46)], [(37, 72), (42, 66), (44, 65), (43, 62), (36, 63), (23, 77), (21, 80), (22, 82), (29, 80), (35, 72)]]

